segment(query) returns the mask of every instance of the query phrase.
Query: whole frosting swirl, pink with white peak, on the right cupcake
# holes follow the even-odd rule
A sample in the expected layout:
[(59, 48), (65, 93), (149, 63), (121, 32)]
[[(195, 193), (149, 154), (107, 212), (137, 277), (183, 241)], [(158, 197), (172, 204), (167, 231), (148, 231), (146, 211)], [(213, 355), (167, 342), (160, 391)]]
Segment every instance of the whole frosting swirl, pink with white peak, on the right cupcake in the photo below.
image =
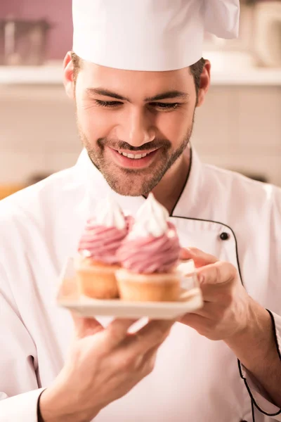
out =
[(169, 213), (152, 193), (138, 210), (136, 223), (117, 252), (122, 266), (139, 274), (169, 272), (180, 255), (180, 243)]

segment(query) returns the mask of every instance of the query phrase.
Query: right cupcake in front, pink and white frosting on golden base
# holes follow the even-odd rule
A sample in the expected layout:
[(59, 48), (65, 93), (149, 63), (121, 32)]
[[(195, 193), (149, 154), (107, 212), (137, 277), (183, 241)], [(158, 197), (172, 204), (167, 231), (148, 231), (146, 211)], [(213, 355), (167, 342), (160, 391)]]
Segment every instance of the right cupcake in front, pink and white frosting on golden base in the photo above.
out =
[(117, 252), (122, 264), (122, 269), (116, 272), (122, 300), (178, 300), (181, 274), (176, 266), (181, 247), (176, 228), (168, 218), (166, 208), (150, 193)]

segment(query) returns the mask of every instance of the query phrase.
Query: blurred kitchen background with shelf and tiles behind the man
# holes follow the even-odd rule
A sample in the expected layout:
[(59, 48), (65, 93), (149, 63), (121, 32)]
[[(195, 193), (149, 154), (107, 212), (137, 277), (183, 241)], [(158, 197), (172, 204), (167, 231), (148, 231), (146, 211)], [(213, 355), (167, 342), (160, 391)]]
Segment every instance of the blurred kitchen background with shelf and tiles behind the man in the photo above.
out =
[[(0, 199), (74, 165), (62, 84), (70, 0), (0, 1)], [(192, 143), (204, 162), (281, 186), (281, 1), (241, 1), (240, 38), (206, 34), (212, 85)]]

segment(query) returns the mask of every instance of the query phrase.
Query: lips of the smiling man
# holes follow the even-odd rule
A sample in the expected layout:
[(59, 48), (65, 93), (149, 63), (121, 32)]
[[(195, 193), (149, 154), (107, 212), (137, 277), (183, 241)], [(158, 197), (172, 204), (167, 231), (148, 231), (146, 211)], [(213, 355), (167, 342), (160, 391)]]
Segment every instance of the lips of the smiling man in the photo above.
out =
[[(138, 158), (136, 160), (135, 158), (128, 158), (125, 157), (122, 154), (119, 154), (119, 152), (113, 148), (107, 147), (108, 151), (110, 151), (110, 154), (112, 155), (112, 159), (115, 162), (115, 164), (119, 165), (119, 167), (123, 167), (126, 169), (144, 169), (145, 167), (148, 167), (151, 162), (155, 159), (155, 156), (157, 155), (159, 148), (154, 151), (139, 151), (137, 154), (148, 154), (146, 157)], [(122, 153), (125, 154), (131, 154), (132, 151), (123, 151)]]

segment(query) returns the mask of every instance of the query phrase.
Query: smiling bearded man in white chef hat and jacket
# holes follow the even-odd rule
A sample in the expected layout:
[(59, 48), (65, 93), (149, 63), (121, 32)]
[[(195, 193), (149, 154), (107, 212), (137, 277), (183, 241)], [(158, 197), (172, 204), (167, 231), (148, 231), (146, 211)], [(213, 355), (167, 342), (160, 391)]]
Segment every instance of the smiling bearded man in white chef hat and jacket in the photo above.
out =
[[(190, 148), (204, 30), (234, 37), (237, 1), (74, 0), (73, 14), (64, 82), (84, 151), (0, 207), (0, 421), (281, 421), (281, 191)], [(133, 335), (130, 320), (72, 320), (56, 281), (87, 217), (108, 193), (136, 215), (150, 191), (192, 247), (204, 307)]]

